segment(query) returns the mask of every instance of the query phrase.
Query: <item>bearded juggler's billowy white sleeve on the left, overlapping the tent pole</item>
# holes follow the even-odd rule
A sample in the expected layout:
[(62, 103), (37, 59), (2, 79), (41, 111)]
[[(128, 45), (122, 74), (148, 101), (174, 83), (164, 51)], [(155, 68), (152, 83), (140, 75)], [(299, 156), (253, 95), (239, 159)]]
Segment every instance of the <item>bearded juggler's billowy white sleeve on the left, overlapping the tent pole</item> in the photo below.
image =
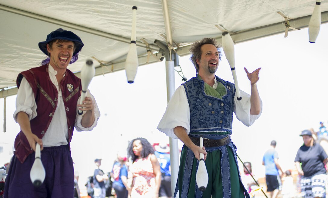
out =
[(183, 85), (180, 85), (178, 89), (175, 90), (157, 129), (169, 137), (178, 139), (173, 132), (173, 129), (178, 126), (185, 128), (187, 134), (189, 134), (190, 110)]

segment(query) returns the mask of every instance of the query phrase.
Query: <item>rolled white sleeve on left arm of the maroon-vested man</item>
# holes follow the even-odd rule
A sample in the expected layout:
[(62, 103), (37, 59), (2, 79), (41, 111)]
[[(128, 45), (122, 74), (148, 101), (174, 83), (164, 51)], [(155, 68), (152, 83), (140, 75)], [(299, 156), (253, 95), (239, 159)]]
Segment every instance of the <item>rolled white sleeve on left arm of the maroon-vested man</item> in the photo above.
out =
[(29, 116), (29, 120), (32, 120), (37, 116), (36, 108), (37, 106), (31, 85), (27, 82), (25, 77), (23, 77), (16, 97), (16, 110), (13, 114), (15, 122), (17, 122), (17, 114), (21, 111)]

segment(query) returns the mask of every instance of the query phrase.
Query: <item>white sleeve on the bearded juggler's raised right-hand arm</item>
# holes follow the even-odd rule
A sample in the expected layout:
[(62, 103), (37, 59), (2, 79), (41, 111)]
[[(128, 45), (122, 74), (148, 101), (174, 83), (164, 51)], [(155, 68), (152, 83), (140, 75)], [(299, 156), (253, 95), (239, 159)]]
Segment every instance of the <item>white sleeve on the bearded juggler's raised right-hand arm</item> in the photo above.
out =
[(262, 100), (260, 99), (261, 111), (258, 115), (251, 115), (251, 95), (240, 90), (241, 100), (237, 100), (237, 94), (234, 97), (234, 112), (239, 121), (241, 121), (247, 127), (251, 126), (262, 113)]

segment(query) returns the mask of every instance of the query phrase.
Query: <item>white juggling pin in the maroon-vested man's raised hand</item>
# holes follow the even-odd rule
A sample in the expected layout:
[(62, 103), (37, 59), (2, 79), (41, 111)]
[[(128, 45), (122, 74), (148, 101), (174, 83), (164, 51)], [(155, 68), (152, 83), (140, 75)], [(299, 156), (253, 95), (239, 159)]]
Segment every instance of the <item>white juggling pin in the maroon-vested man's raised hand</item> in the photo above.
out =
[[(94, 76), (94, 73), (95, 73), (95, 71), (94, 71), (93, 61), (88, 59), (85, 62), (85, 65), (81, 69), (82, 93), (81, 93), (81, 97), (80, 97), (80, 105), (82, 105), (83, 100), (85, 99), (89, 84)], [(83, 111), (78, 110), (77, 113), (79, 115), (82, 115)]]

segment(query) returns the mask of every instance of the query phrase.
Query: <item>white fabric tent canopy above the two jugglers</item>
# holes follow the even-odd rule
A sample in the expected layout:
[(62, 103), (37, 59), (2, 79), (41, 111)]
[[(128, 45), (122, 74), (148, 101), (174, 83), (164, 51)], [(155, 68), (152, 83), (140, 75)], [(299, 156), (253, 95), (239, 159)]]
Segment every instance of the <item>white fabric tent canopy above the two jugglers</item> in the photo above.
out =
[[(96, 75), (124, 69), (129, 49), (132, 6), (137, 6), (137, 51), (139, 65), (147, 62), (146, 44), (157, 53), (155, 39), (171, 43), (180, 56), (189, 54), (189, 44), (229, 30), (235, 43), (284, 32), (285, 19), (296, 29), (308, 26), (313, 0), (222, 0), (222, 1), (78, 1), (0, 0), (0, 98), (16, 94), (17, 74), (36, 67), (45, 55), (38, 42), (57, 28), (74, 31), (85, 44), (79, 60), (70, 66), (79, 72), (85, 60), (95, 59)], [(321, 2), (321, 21), (328, 22), (328, 1)], [(289, 29), (292, 30), (292, 29)], [(165, 40), (167, 35), (168, 41)], [(172, 41), (171, 41), (172, 39)], [(96, 61), (99, 60), (102, 64)], [(150, 56), (149, 63), (157, 60)]]

